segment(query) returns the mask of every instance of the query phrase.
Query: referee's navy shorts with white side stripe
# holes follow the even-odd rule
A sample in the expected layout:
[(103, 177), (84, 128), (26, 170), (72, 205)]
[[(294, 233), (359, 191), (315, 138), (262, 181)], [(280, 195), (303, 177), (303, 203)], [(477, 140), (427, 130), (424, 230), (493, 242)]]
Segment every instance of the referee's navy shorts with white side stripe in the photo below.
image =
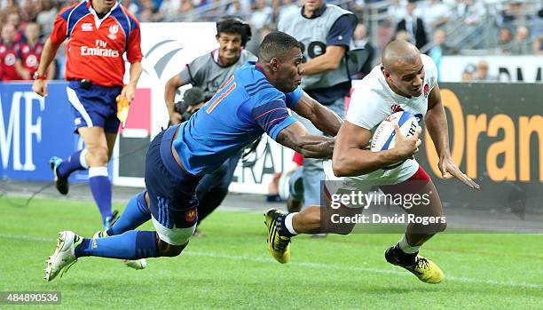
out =
[(83, 89), (80, 81), (70, 81), (66, 88), (74, 113), (75, 132), (81, 127), (102, 127), (106, 132), (119, 131), (117, 96), (122, 86), (104, 87), (91, 85)]

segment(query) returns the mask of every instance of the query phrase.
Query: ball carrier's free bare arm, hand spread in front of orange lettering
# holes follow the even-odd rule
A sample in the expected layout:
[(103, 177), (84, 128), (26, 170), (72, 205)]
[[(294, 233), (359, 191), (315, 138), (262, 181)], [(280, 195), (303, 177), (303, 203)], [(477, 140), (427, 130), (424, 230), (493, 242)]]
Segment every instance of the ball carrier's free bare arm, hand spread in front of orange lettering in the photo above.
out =
[(429, 94), (428, 112), (424, 116), (424, 123), (426, 123), (428, 133), (434, 142), (434, 147), (436, 147), (437, 155), (439, 156), (439, 171), (441, 171), (442, 177), (448, 179), (453, 176), (456, 179), (460, 179), (468, 187), (479, 189), (479, 185), (464, 172), (460, 171), (460, 168), (458, 168), (458, 165), (454, 163), (451, 157), (447, 117), (437, 84)]

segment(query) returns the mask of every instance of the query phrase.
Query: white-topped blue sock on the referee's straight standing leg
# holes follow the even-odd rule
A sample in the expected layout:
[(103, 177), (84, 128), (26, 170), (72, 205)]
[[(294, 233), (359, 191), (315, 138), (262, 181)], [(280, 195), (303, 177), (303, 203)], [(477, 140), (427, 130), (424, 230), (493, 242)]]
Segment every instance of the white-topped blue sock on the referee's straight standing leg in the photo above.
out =
[(89, 185), (102, 221), (105, 221), (106, 217), (111, 216), (111, 181), (107, 177), (107, 167), (91, 167)]

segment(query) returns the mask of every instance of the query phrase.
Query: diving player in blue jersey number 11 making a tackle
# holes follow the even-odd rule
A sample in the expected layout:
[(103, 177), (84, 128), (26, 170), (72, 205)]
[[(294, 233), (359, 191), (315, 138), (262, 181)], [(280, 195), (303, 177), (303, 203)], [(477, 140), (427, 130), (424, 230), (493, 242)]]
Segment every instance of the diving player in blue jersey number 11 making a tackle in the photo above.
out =
[[(329, 158), (334, 138), (311, 135), (287, 108), (335, 136), (342, 120), (305, 94), (300, 44), (282, 32), (264, 37), (257, 62), (248, 62), (188, 122), (159, 133), (146, 156), (146, 191), (135, 195), (106, 238), (59, 233), (47, 259), (46, 281), (85, 256), (138, 259), (174, 257), (198, 221), (194, 192), (203, 175), (264, 132), (305, 157)], [(156, 231), (135, 230), (147, 220)]]

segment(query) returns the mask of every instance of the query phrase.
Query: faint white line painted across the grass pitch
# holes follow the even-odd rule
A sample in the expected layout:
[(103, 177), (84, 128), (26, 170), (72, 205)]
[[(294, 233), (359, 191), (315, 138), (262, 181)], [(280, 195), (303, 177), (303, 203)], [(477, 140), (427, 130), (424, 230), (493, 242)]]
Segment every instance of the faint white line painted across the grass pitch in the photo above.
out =
[[(0, 239), (12, 239), (20, 241), (29, 241), (29, 242), (56, 242), (56, 238), (43, 238), (40, 236), (33, 235), (22, 235), (22, 234), (0, 234)], [(237, 255), (227, 255), (220, 254), (215, 252), (198, 252), (186, 250), (181, 255), (196, 256), (196, 257), (207, 257), (207, 258), (224, 258), (232, 260), (244, 260), (244, 261), (253, 261), (258, 263), (265, 264), (276, 264), (275, 260), (271, 258), (264, 258), (259, 256), (237, 256)], [(312, 263), (312, 262), (290, 262), (289, 266), (301, 266), (315, 269), (333, 269), (336, 271), (356, 271), (356, 272), (366, 272), (374, 274), (395, 274), (400, 276), (413, 276), (412, 274), (406, 272), (399, 272), (396, 270), (388, 269), (377, 269), (377, 268), (368, 268), (361, 266), (338, 266), (334, 264), (322, 264), (322, 263)], [(468, 277), (454, 276), (446, 274), (445, 282), (468, 282), (468, 283), (480, 283), (496, 286), (510, 286), (515, 288), (525, 288), (525, 289), (543, 289), (543, 284), (530, 283), (530, 282), (514, 282), (514, 281), (494, 281), (494, 280), (481, 280)]]

